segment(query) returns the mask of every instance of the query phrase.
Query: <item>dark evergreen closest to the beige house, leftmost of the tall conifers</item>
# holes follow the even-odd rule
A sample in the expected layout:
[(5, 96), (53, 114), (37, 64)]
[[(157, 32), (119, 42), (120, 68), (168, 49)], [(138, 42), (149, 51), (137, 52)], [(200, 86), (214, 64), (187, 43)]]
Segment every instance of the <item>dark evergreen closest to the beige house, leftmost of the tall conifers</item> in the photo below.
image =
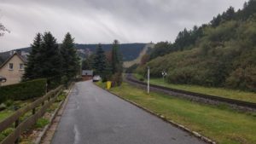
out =
[(40, 55), (39, 50), (41, 48), (41, 45), (42, 45), (42, 35), (38, 33), (34, 38), (34, 41), (31, 45), (32, 50), (30, 52), (30, 55), (28, 55), (28, 58), (27, 58), (25, 74), (23, 76), (24, 79), (33, 79), (38, 77), (39, 65), (37, 64), (37, 62), (38, 62), (38, 56)]

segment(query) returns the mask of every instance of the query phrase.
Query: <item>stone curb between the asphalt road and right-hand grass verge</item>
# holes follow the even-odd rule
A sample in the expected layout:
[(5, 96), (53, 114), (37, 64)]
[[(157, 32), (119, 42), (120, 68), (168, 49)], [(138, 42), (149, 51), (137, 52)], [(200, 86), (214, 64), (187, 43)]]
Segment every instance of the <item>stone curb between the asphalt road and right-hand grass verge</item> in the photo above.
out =
[[(95, 85), (96, 85), (96, 84), (95, 84)], [(103, 89), (102, 87), (100, 87), (100, 86), (98, 86), (98, 85), (96, 85), (96, 86), (99, 87), (99, 88), (101, 88), (101, 89)], [(109, 91), (109, 90), (107, 90), (107, 89), (103, 89), (103, 90), (108, 91), (108, 93), (110, 93), (110, 94), (112, 94), (112, 95), (116, 95), (116, 94), (114, 94), (113, 92), (111, 92), (111, 91)], [(155, 117), (160, 118), (160, 119), (162, 119), (163, 121), (165, 121), (165, 122), (167, 122), (167, 123), (169, 123), (169, 124), (174, 125), (174, 126), (177, 127), (178, 129), (184, 130), (184, 131), (188, 132), (189, 134), (194, 135), (195, 137), (201, 139), (202, 141), (205, 141), (205, 142), (207, 142), (207, 143), (209, 143), (209, 144), (216, 144), (215, 141), (212, 141), (211, 139), (207, 138), (206, 136), (201, 135), (201, 134), (199, 134), (199, 133), (196, 132), (196, 131), (189, 130), (189, 128), (186, 128), (184, 125), (182, 125), (182, 124), (177, 124), (177, 123), (175, 123), (174, 121), (172, 121), (172, 120), (166, 118), (165, 116), (161, 115), (160, 113), (155, 113), (155, 112), (153, 112), (153, 111), (151, 111), (151, 110), (148, 110), (148, 108), (141, 107), (141, 106), (139, 106), (136, 102), (126, 100), (125, 98), (123, 98), (123, 97), (121, 97), (121, 96), (119, 96), (119, 95), (116, 95), (116, 96), (119, 97), (120, 99), (124, 100), (124, 101), (127, 101), (127, 102), (131, 103), (132, 105), (134, 105), (134, 106), (136, 106), (136, 107), (138, 107), (138, 108), (143, 109), (144, 111), (146, 111), (146, 112), (148, 112), (148, 113), (154, 115)]]

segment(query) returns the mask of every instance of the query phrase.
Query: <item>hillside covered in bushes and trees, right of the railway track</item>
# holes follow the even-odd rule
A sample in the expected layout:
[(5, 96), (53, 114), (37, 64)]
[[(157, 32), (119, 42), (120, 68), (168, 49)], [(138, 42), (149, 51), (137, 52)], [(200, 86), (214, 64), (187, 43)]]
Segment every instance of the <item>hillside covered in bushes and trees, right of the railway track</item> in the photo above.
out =
[(256, 1), (230, 7), (209, 24), (179, 32), (174, 43), (157, 43), (147, 65), (137, 68), (174, 84), (198, 84), (256, 91)]

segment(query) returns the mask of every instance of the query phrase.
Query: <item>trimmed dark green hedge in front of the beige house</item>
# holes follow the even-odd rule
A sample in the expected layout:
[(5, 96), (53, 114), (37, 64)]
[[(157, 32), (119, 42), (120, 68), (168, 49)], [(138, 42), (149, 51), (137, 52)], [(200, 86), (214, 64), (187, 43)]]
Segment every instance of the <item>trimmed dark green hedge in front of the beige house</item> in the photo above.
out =
[(42, 78), (0, 87), (0, 103), (6, 100), (23, 101), (43, 96), (46, 91), (46, 82), (46, 79)]

